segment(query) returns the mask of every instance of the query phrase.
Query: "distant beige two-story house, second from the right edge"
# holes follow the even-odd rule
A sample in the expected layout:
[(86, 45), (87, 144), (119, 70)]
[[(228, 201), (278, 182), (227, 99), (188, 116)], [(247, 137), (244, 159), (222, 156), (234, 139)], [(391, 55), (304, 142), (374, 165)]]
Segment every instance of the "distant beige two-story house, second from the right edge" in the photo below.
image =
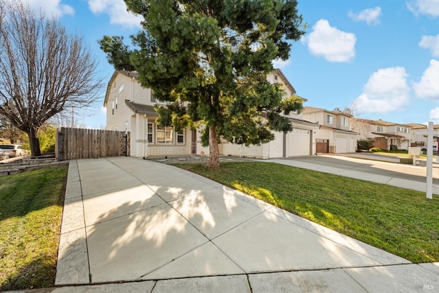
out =
[(351, 124), (351, 129), (360, 133), (360, 139), (374, 139), (375, 148), (408, 150), (410, 146), (410, 125), (357, 118), (353, 118)]

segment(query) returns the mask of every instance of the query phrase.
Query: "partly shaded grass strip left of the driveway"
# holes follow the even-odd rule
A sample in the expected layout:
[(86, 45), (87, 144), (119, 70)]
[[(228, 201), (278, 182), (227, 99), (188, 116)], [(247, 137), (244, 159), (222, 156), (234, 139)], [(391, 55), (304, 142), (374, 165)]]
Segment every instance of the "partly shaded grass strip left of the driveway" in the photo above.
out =
[(67, 167), (0, 178), (0, 291), (51, 287)]

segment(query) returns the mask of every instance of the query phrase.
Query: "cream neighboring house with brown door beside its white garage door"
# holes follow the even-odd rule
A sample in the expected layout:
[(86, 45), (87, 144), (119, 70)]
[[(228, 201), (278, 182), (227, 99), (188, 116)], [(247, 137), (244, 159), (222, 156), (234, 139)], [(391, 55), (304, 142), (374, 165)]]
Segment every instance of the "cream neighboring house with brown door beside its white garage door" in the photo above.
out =
[(358, 132), (350, 130), (353, 116), (340, 110), (305, 107), (303, 119), (320, 125), (316, 130), (316, 153), (342, 154), (357, 150)]

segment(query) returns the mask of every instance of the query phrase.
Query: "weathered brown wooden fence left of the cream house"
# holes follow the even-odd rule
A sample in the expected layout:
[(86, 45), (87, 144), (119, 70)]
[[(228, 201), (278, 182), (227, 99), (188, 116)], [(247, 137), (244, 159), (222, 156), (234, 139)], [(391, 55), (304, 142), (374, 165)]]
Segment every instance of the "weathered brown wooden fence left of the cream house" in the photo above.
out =
[(58, 161), (130, 156), (130, 132), (62, 127), (55, 145)]

